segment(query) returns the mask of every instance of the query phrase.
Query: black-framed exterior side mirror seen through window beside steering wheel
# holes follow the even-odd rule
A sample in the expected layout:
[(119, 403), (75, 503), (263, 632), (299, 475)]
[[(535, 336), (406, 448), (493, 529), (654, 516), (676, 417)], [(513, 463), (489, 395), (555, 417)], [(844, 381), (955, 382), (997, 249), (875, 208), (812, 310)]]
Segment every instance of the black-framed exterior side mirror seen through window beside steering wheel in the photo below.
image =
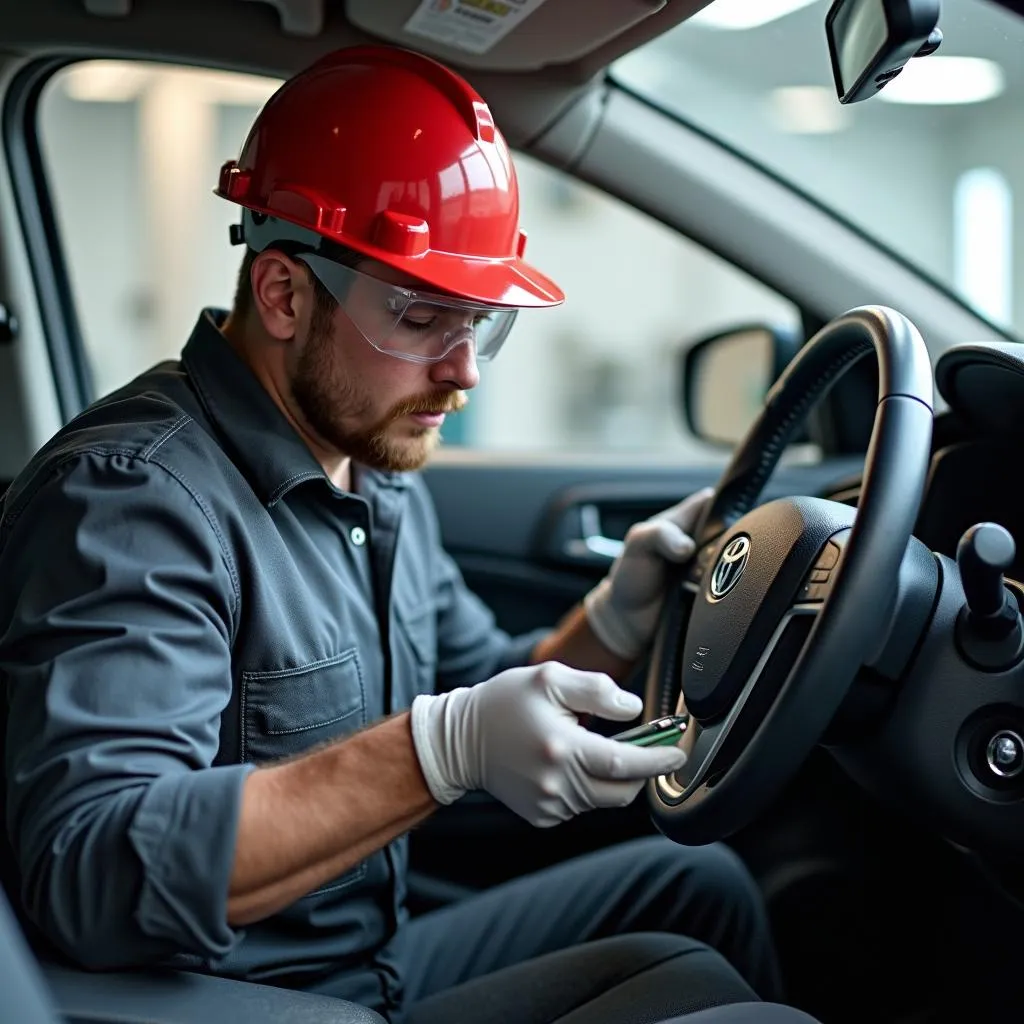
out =
[(690, 432), (729, 447), (742, 440), (802, 341), (788, 328), (755, 324), (702, 338), (686, 349), (681, 398)]

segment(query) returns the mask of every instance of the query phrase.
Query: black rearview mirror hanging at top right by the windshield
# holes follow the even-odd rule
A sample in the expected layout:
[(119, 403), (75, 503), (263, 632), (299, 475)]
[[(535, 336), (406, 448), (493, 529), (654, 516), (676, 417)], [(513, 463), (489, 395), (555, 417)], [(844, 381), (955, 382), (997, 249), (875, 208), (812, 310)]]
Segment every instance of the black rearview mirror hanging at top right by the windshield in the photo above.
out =
[(939, 0), (836, 0), (825, 15), (841, 103), (873, 96), (911, 57), (938, 49)]

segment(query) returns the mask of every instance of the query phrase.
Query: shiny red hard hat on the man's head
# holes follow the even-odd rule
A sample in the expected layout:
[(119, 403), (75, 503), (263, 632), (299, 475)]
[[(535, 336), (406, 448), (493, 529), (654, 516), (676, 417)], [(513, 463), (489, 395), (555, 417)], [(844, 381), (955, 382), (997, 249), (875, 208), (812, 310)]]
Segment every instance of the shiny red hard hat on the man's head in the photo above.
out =
[(487, 104), (410, 50), (337, 50), (286, 82), (215, 191), (465, 299), (565, 298), (522, 259), (515, 168)]

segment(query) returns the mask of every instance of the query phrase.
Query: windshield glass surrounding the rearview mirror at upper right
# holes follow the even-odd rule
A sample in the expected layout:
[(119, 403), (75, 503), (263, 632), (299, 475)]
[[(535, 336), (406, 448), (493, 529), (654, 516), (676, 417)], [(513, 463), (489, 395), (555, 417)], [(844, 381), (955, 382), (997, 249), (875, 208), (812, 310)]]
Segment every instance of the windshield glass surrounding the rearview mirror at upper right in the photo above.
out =
[(943, 0), (938, 52), (844, 106), (828, 7), (714, 0), (613, 72), (1024, 335), (1024, 18)]

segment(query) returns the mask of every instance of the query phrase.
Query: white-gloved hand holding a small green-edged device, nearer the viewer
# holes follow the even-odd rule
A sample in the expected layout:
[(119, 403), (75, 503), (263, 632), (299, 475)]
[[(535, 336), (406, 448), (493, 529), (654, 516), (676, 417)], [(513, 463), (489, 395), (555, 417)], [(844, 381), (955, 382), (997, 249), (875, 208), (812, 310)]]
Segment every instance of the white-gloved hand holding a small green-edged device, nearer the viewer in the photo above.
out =
[(434, 799), (485, 790), (534, 825), (625, 807), (644, 780), (686, 763), (679, 748), (631, 746), (577, 715), (629, 721), (642, 709), (610, 677), (557, 662), (509, 669), (476, 686), (413, 701), (413, 742)]

